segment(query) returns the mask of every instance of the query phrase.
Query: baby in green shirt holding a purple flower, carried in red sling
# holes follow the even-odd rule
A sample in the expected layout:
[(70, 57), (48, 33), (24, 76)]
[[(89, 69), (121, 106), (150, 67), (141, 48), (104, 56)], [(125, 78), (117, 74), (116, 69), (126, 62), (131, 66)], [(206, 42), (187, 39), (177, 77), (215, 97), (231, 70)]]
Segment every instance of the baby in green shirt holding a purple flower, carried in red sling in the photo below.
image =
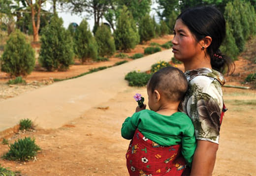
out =
[(130, 176), (189, 175), (196, 148), (194, 126), (178, 112), (187, 89), (184, 73), (175, 67), (164, 67), (149, 80), (150, 110), (138, 106), (121, 129), (123, 138), (132, 139), (126, 154)]

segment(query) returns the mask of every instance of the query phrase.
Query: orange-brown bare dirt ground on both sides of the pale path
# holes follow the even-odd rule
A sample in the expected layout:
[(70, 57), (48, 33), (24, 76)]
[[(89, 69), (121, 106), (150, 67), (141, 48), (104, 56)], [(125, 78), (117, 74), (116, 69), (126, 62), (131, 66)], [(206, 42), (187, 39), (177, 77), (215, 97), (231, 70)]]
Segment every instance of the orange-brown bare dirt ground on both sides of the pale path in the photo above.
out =
[[(151, 42), (163, 44), (170, 39), (171, 36), (165, 36)], [(145, 45), (139, 45), (129, 55), (143, 53), (143, 47)], [(76, 64), (67, 72), (34, 71), (26, 80), (40, 82), (50, 78), (72, 77), (89, 68), (112, 65), (122, 59), (110, 60)], [(246, 76), (244, 68), (248, 65), (252, 64), (246, 59), (236, 61), (234, 76), (226, 77), (226, 84), (246, 86), (241, 82)], [(178, 67), (182, 69), (182, 65)], [(8, 80), (5, 76), (0, 78), (2, 82)], [(228, 111), (221, 127), (213, 176), (256, 176), (256, 90), (223, 88), (223, 91)], [(35, 138), (41, 151), (29, 162), (0, 159), (0, 164), (12, 171), (20, 171), (22, 176), (128, 176), (125, 153), (129, 141), (122, 139), (120, 129), (124, 119), (135, 110), (136, 102), (132, 96), (137, 92), (147, 94), (146, 88), (129, 87), (108, 102), (99, 104), (80, 117), (74, 117), (61, 128), (35, 128), (31, 132), (6, 136), (9, 143), (24, 136)], [(0, 144), (0, 155), (7, 151), (8, 146)]]

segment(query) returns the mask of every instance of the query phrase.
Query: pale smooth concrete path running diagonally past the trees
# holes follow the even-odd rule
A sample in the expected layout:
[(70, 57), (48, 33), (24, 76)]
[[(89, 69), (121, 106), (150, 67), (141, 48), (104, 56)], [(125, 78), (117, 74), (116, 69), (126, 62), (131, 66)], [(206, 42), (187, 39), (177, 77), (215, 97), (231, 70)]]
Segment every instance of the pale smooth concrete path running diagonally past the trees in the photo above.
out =
[(134, 70), (150, 70), (151, 65), (170, 61), (171, 50), (107, 68), (76, 79), (25, 92), (0, 102), (0, 131), (30, 118), (41, 128), (58, 128), (86, 110), (106, 102), (128, 88), (125, 75)]

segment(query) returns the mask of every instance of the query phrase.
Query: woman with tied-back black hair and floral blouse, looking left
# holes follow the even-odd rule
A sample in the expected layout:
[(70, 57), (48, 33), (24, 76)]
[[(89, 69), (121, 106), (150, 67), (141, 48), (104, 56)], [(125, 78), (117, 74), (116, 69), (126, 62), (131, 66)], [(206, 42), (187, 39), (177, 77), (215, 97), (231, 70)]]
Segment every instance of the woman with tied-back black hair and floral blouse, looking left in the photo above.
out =
[(220, 72), (234, 70), (233, 61), (219, 50), (224, 37), (224, 16), (211, 6), (185, 10), (174, 27), (172, 52), (184, 63), (189, 81), (180, 111), (192, 119), (197, 140), (191, 176), (211, 176), (216, 160), (224, 108)]

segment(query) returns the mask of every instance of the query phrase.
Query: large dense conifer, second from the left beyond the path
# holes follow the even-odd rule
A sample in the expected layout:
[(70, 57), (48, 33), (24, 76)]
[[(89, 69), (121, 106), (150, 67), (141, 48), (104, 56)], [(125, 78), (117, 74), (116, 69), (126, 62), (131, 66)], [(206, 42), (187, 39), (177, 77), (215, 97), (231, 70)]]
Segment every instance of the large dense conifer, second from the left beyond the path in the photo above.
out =
[(57, 15), (42, 31), (39, 63), (47, 71), (64, 71), (73, 63), (73, 42), (70, 32), (64, 29)]

